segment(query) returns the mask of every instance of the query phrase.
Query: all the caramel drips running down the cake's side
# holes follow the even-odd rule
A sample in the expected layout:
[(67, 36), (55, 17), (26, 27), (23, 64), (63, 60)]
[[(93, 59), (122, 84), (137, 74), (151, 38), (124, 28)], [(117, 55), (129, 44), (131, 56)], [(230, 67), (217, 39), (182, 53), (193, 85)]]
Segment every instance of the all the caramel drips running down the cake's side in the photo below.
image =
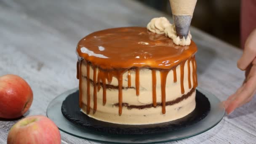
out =
[[(193, 88), (197, 86), (197, 74), (196, 74), (196, 61), (195, 56), (189, 58), (188, 60), (188, 83), (190, 83), (191, 88), (191, 80), (190, 80), (190, 61), (192, 62), (192, 79), (193, 79)], [(87, 61), (87, 114), (90, 112), (90, 64)], [(79, 81), (79, 89), (81, 89), (81, 61), (77, 61), (77, 77), (80, 79)], [(185, 62), (181, 62), (180, 69), (181, 69), (181, 93), (184, 93), (184, 64)], [(165, 114), (165, 87), (166, 87), (166, 78), (171, 69), (166, 70), (162, 69), (160, 70), (160, 77), (161, 77), (161, 94), (162, 94), (162, 113)], [(176, 67), (173, 69), (173, 79), (174, 82), (176, 82)], [(106, 79), (109, 83), (112, 82), (112, 77), (117, 77), (118, 80), (118, 103), (119, 103), (119, 115), (122, 115), (122, 103), (123, 103), (123, 73), (126, 72), (125, 70), (120, 71), (103, 71), (99, 69), (98, 76), (96, 79), (96, 67), (93, 67), (93, 113), (96, 112), (97, 109), (97, 83), (98, 83), (98, 91), (101, 88), (100, 81), (102, 82), (103, 87), (103, 105), (106, 104)], [(139, 91), (139, 68), (136, 68), (136, 95), (139, 94), (137, 91)], [(130, 79), (130, 80), (129, 80)], [(130, 70), (128, 70), (128, 86), (129, 81), (131, 83), (131, 73)], [(153, 100), (153, 106), (156, 107), (157, 101), (156, 101), (156, 70), (152, 69), (152, 100)], [(82, 107), (82, 91), (79, 93), (79, 107)]]

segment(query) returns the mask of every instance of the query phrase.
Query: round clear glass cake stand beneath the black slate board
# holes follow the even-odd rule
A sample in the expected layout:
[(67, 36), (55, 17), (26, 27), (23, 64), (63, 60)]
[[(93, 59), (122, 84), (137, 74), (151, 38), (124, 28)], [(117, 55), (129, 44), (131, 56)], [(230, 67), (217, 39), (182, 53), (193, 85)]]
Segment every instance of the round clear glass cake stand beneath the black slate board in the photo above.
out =
[(112, 143), (157, 143), (166, 141), (176, 141), (180, 139), (196, 136), (200, 133), (208, 131), (217, 125), (225, 114), (221, 101), (213, 94), (206, 93), (201, 88), (197, 88), (201, 93), (205, 94), (211, 104), (211, 110), (208, 115), (198, 123), (181, 128), (177, 131), (169, 131), (165, 133), (144, 134), (144, 135), (115, 135), (109, 133), (98, 132), (88, 128), (82, 128), (69, 122), (61, 113), (61, 104), (70, 94), (77, 91), (77, 88), (66, 91), (51, 101), (47, 108), (47, 117), (49, 117), (58, 126), (58, 128), (72, 136), (92, 141), (103, 141)]

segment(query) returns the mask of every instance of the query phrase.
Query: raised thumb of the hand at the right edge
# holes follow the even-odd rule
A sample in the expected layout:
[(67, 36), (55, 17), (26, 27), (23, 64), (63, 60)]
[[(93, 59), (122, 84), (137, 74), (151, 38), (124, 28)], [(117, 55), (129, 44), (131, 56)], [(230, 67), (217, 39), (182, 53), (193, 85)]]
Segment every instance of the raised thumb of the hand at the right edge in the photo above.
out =
[(237, 61), (237, 67), (245, 70), (249, 64), (256, 58), (256, 29), (251, 32), (245, 42), (245, 49), (242, 57)]

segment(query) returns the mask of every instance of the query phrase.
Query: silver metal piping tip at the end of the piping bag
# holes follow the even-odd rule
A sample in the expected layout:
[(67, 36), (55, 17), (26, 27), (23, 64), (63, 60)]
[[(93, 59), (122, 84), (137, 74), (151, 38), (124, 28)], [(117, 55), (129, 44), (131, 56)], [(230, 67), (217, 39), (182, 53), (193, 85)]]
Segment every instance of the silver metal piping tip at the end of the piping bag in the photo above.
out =
[(173, 15), (173, 21), (176, 29), (176, 33), (179, 38), (185, 37), (189, 34), (189, 26), (191, 23), (192, 16), (176, 16)]

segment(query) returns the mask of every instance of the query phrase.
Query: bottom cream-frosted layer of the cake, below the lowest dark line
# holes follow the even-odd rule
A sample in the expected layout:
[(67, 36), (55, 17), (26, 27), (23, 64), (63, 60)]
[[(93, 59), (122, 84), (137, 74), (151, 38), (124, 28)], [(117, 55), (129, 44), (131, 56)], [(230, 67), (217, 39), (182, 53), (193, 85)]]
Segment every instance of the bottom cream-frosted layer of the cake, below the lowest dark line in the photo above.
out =
[[(118, 115), (118, 107), (113, 107), (111, 104), (97, 106), (99, 109), (94, 114), (89, 114), (96, 120), (101, 120), (109, 123), (118, 123), (126, 125), (144, 125), (153, 123), (164, 123), (172, 120), (177, 120), (188, 115), (195, 109), (195, 91), (186, 100), (178, 104), (166, 106), (166, 113), (162, 114), (161, 107), (151, 107), (147, 109), (127, 109), (123, 108), (123, 114)], [(83, 105), (82, 112), (86, 114), (86, 105)], [(104, 110), (104, 111), (101, 111)], [(106, 112), (107, 111), (107, 112)], [(113, 113), (111, 113), (113, 112)]]

